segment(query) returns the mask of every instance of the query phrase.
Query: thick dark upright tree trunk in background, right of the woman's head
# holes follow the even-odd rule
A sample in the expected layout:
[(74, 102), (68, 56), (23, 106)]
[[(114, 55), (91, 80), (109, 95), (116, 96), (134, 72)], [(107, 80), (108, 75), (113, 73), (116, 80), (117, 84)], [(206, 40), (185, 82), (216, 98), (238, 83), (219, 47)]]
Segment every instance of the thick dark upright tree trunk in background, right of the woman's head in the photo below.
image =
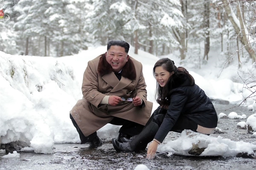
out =
[(208, 60), (208, 53), (210, 51), (210, 3), (209, 0), (204, 1), (204, 21), (205, 21), (205, 29), (206, 29), (206, 39), (204, 42), (204, 58), (206, 57), (206, 60)]

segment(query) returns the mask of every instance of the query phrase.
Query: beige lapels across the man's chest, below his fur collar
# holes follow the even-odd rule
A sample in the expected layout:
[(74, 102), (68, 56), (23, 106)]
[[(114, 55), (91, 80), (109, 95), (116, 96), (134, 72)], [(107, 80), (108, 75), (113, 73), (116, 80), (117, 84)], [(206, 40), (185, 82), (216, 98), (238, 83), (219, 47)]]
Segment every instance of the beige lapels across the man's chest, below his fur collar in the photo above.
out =
[(108, 83), (113, 89), (111, 92), (119, 91), (126, 86), (128, 86), (133, 80), (130, 80), (128, 78), (125, 78), (122, 76), (121, 80), (119, 81), (114, 72), (111, 72), (110, 74), (105, 74), (102, 76), (102, 79)]

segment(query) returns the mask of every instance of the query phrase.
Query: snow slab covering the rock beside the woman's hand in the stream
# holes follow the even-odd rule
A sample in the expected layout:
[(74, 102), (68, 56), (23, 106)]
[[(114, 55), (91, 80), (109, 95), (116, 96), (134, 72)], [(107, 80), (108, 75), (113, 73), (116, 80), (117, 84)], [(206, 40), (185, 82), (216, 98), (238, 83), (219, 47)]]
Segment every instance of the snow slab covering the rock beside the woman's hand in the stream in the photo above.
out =
[(199, 148), (206, 148), (200, 156), (234, 156), (238, 153), (254, 154), (256, 145), (224, 139), (221, 136), (211, 137), (190, 130), (181, 132), (177, 140), (168, 141), (165, 145), (158, 146), (158, 152), (171, 152), (180, 155), (190, 155), (188, 152), (193, 144), (198, 144)]

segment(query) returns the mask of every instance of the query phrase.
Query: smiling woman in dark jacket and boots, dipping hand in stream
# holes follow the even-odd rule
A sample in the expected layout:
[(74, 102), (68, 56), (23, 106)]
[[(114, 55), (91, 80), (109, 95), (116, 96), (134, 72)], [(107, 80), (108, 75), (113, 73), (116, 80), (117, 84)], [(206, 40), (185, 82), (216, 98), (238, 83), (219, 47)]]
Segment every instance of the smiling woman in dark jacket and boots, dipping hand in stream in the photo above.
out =
[(153, 73), (157, 80), (155, 99), (160, 106), (142, 132), (130, 141), (120, 143), (112, 139), (117, 152), (138, 152), (152, 141), (147, 158), (154, 158), (158, 144), (169, 131), (190, 129), (209, 135), (217, 126), (218, 116), (212, 102), (185, 68), (177, 68), (171, 59), (162, 58), (155, 63)]

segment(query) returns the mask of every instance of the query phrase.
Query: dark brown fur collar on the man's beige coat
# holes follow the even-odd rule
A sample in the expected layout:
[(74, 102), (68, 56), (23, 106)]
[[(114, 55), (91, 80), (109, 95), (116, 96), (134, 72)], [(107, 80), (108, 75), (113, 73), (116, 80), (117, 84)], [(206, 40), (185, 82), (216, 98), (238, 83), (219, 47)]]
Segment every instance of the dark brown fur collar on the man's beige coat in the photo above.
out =
[[(99, 59), (98, 74), (104, 76), (105, 74), (110, 74), (111, 72), (113, 72), (113, 69), (111, 65), (108, 64), (105, 54), (102, 54), (101, 58)], [(136, 79), (135, 66), (130, 58), (122, 69), (122, 76), (130, 80)]]

